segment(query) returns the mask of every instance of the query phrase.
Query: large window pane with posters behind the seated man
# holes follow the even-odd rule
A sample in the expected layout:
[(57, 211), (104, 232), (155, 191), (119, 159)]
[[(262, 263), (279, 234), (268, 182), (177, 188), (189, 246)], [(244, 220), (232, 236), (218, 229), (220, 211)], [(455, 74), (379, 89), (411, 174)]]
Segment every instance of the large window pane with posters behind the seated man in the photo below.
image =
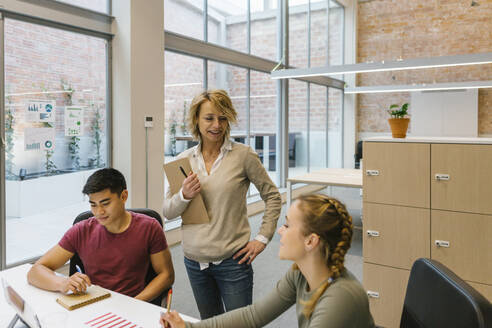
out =
[(10, 265), (43, 254), (89, 209), (83, 184), (108, 165), (107, 41), (8, 18), (4, 29)]

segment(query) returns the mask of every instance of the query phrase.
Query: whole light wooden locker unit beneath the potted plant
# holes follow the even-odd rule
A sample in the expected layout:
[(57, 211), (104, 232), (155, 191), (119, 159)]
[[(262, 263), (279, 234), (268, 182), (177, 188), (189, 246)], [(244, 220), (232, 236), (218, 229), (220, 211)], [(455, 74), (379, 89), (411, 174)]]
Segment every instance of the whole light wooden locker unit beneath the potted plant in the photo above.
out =
[(378, 295), (376, 324), (398, 327), (419, 257), (492, 300), (492, 139), (368, 140), (363, 158), (363, 284)]

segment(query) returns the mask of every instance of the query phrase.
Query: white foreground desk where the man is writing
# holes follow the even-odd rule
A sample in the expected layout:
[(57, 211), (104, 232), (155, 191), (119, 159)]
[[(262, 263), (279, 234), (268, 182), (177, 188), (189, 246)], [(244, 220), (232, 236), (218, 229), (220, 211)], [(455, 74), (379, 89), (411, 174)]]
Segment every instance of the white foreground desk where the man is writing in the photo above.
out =
[[(24, 264), (12, 269), (8, 269), (0, 272), (0, 277), (4, 278), (24, 300), (33, 308), (34, 312), (38, 314), (41, 324), (43, 318), (50, 314), (64, 312), (67, 313), (67, 327), (70, 328), (89, 328), (91, 327), (86, 322), (111, 312), (116, 316), (126, 319), (132, 322), (125, 326), (129, 328), (136, 324), (135, 328), (157, 328), (160, 327), (159, 314), (161, 311), (165, 311), (162, 307), (153, 305), (151, 303), (136, 300), (132, 297), (128, 297), (116, 292), (111, 292), (111, 297), (101, 300), (96, 303), (92, 303), (73, 311), (68, 311), (58, 303), (56, 298), (60, 295), (56, 292), (49, 292), (37, 287), (31, 286), (27, 283), (27, 272), (31, 265)], [(0, 295), (0, 327), (7, 327), (9, 322), (15, 315), (14, 309), (7, 304), (3, 291)], [(196, 322), (197, 319), (181, 315), (184, 320)], [(112, 319), (111, 319), (112, 320)], [(117, 324), (121, 320), (114, 321), (111, 324), (104, 326), (104, 328), (111, 327)], [(122, 323), (124, 324), (124, 323)], [(119, 327), (116, 325), (114, 328)], [(17, 322), (15, 327), (25, 327), (20, 321)], [(96, 325), (94, 328), (98, 327)], [(43, 327), (49, 328), (49, 327)]]

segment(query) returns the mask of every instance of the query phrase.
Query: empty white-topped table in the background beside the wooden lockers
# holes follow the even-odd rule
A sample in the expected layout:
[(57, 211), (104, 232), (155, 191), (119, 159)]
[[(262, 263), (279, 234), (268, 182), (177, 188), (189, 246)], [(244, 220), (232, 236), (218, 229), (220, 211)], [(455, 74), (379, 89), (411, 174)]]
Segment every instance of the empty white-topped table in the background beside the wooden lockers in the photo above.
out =
[(326, 168), (287, 179), (287, 209), (292, 202), (292, 185), (296, 183), (322, 186), (362, 188), (362, 170)]

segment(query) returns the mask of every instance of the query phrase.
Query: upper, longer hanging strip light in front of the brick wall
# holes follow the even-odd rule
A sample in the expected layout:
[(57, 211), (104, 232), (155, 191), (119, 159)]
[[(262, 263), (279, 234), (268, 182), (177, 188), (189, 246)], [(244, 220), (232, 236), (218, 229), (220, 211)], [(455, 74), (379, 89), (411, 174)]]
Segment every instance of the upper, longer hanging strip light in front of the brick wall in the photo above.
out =
[(399, 71), (399, 70), (408, 70), (408, 69), (481, 65), (481, 64), (491, 64), (491, 63), (492, 63), (492, 52), (485, 52), (485, 53), (478, 53), (478, 54), (414, 58), (414, 59), (405, 59), (405, 60), (398, 59), (389, 62), (385, 62), (383, 60), (381, 62), (369, 62), (369, 63), (359, 63), (359, 64), (283, 69), (283, 70), (272, 71), (270, 77), (272, 79), (290, 79), (290, 78), (299, 78), (299, 77), (308, 77), (308, 76)]

